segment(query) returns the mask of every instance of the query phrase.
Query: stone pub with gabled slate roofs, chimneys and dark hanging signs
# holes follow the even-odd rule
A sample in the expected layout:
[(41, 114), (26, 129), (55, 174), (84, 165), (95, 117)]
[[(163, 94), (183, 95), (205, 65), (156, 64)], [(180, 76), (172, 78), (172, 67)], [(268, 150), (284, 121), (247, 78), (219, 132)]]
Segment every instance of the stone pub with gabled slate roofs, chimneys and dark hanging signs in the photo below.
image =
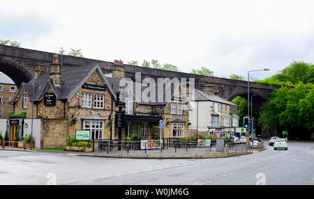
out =
[[(160, 119), (165, 120), (162, 138), (188, 136), (190, 105), (180, 84), (163, 84), (167, 88), (163, 92), (147, 95), (157, 100), (146, 101), (138, 98), (129, 86), (121, 85), (124, 78), (121, 61), (115, 61), (112, 77), (103, 74), (98, 65), (62, 70), (57, 55), (50, 68), (40, 64), (34, 67), (35, 77), (22, 83), (10, 100), (14, 113), (4, 127), (1, 125), (0, 130), (8, 130), (12, 138), (15, 134), (20, 138), (29, 135), (31, 123), (36, 148), (64, 147), (66, 138), (77, 129), (89, 130), (92, 139), (121, 139), (133, 134), (158, 138), (156, 126)], [(143, 93), (152, 88), (147, 83), (133, 84), (138, 88), (135, 90)], [(121, 128), (116, 127), (115, 121), (119, 111), (124, 113)]]

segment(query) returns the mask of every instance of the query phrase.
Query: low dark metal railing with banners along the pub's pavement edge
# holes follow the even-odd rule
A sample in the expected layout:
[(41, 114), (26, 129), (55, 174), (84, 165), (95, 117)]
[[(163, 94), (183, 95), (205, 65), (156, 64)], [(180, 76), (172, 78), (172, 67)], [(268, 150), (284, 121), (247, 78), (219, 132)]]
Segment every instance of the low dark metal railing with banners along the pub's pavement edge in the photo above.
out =
[[(222, 150), (221, 150), (222, 149)], [(217, 150), (216, 143), (210, 146), (197, 146), (197, 142), (163, 142), (161, 148), (147, 148), (141, 141), (95, 141), (96, 154), (114, 157), (225, 157), (252, 152), (247, 143), (224, 143)]]

